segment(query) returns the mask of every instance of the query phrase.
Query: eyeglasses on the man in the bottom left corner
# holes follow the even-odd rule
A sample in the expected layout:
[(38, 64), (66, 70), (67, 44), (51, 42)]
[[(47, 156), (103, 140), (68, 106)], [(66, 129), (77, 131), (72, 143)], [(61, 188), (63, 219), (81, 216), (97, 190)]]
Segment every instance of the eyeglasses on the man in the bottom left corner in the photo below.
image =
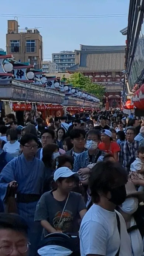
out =
[(28, 251), (28, 248), (29, 248), (30, 245), (31, 245), (30, 242), (25, 243), (25, 244), (15, 245), (15, 246), (2, 245), (0, 247), (0, 250), (4, 255), (9, 255), (13, 252), (13, 249), (15, 247), (19, 253), (25, 253), (25, 252)]

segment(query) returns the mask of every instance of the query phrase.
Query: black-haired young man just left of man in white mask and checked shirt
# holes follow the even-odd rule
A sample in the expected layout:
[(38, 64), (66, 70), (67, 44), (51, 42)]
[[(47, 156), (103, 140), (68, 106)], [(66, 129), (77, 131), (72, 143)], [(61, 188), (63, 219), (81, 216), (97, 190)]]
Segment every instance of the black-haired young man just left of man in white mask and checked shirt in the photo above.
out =
[(73, 144), (73, 148), (66, 152), (68, 156), (72, 156), (75, 159), (80, 153), (87, 150), (85, 149), (85, 130), (72, 129), (69, 133), (69, 137)]

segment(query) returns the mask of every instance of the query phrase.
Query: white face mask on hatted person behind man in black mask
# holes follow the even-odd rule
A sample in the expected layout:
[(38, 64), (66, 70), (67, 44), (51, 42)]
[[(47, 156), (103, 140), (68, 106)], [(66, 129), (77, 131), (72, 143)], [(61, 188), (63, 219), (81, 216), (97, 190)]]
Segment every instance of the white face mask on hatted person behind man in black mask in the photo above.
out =
[(136, 197), (127, 198), (123, 202), (122, 206), (119, 207), (123, 212), (127, 214), (134, 214), (134, 212), (136, 212), (138, 208), (138, 199)]

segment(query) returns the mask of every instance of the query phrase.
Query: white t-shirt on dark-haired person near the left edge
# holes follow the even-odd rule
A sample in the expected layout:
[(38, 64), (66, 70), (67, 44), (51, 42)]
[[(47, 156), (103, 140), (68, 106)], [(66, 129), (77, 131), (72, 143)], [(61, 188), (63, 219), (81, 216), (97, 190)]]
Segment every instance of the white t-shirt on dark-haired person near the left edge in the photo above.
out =
[(10, 141), (8, 141), (6, 144), (4, 144), (3, 150), (10, 153), (11, 156), (17, 157), (20, 153), (20, 142), (16, 140), (14, 143), (10, 143)]

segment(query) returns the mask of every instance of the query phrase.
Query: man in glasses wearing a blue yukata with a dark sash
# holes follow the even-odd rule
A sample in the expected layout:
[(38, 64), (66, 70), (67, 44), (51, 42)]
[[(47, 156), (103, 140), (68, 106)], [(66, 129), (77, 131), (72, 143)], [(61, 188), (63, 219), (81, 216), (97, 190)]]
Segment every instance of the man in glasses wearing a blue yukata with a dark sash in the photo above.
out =
[(44, 164), (35, 157), (38, 149), (38, 138), (26, 134), (20, 140), (23, 153), (11, 160), (0, 174), (0, 197), (5, 201), (8, 188), (17, 187), (18, 214), (29, 226), (30, 255), (35, 255), (35, 249), (41, 236), (41, 227), (34, 222), (35, 208), (43, 192)]

